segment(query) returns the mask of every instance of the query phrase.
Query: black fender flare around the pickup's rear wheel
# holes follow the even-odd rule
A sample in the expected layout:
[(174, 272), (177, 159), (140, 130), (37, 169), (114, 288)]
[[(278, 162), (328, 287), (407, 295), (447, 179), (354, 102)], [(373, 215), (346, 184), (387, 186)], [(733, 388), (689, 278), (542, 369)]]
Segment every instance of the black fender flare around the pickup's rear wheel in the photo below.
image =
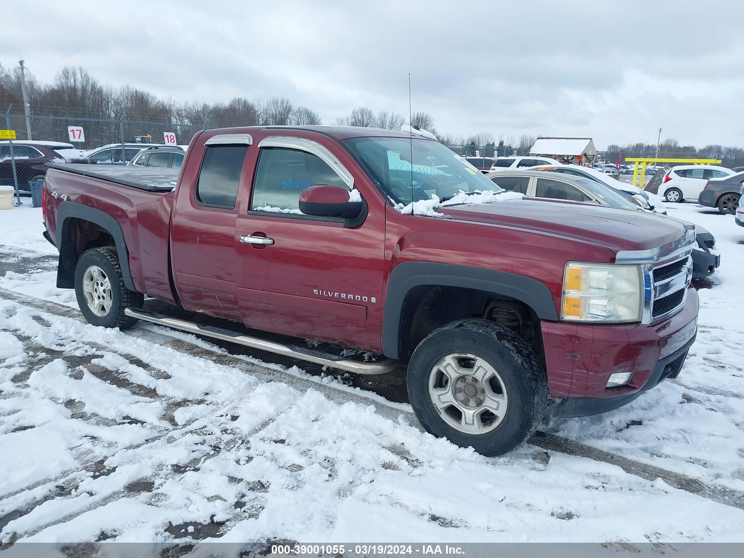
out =
[(121, 231), (121, 225), (118, 221), (109, 214), (100, 211), (100, 209), (66, 201), (60, 202), (57, 207), (57, 248), (60, 249), (60, 264), (57, 266), (57, 287), (60, 289), (74, 288), (73, 278), (77, 260), (72, 254), (72, 243), (67, 238), (67, 228), (71, 218), (93, 222), (111, 234), (119, 255), (119, 266), (121, 266), (124, 285), (130, 291), (137, 291), (135, 283), (132, 281), (132, 272), (129, 271), (129, 252), (126, 250), (124, 233)]

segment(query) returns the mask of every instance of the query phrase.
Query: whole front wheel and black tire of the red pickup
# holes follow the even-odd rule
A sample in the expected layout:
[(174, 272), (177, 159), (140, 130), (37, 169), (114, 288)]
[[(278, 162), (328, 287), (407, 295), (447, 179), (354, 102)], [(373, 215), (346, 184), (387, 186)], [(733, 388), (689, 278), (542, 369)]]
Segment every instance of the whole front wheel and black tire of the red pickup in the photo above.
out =
[(502, 455), (535, 431), (548, 382), (522, 338), (491, 321), (430, 333), (408, 363), (408, 400), (426, 432), (482, 455)]

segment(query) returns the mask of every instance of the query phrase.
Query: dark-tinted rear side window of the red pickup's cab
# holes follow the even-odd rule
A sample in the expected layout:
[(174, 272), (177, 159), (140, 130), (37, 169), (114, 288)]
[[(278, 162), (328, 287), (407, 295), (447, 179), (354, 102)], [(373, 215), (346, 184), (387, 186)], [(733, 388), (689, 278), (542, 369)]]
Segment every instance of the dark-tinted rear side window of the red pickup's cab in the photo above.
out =
[(196, 181), (196, 202), (218, 208), (234, 208), (247, 151), (247, 145), (207, 147)]

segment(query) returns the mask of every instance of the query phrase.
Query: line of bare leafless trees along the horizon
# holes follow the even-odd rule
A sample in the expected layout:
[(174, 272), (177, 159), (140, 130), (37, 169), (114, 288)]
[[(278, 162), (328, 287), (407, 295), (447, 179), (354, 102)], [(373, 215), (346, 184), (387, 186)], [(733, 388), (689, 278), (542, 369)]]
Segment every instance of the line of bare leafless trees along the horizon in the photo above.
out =
[[(65, 66), (54, 77), (52, 83), (39, 83), (26, 72), (26, 87), (33, 115), (89, 117), (130, 121), (150, 121), (199, 127), (258, 126), (258, 125), (312, 125), (322, 124), (317, 112), (307, 106), (295, 105), (286, 97), (269, 100), (234, 97), (227, 103), (179, 103), (173, 99), (161, 99), (154, 94), (130, 86), (114, 88), (98, 82), (85, 68)], [(13, 104), (12, 112), (23, 112), (23, 96), (19, 68), (4, 68), (0, 65), (0, 109)], [(367, 106), (359, 106), (350, 114), (336, 118), (336, 124), (345, 126), (373, 126), (384, 129), (400, 129), (407, 119), (396, 112), (381, 110), (374, 112)], [(426, 129), (447, 147), (461, 155), (527, 155), (535, 136), (522, 134), (493, 135), (479, 132), (472, 135), (452, 135), (439, 132), (434, 118), (426, 112), (411, 115), (411, 125)], [(39, 138), (41, 139), (41, 138)], [(609, 161), (623, 157), (652, 157), (655, 144), (612, 144), (602, 156)], [(681, 146), (674, 139), (665, 139), (659, 146), (659, 156), (674, 158), (719, 158), (725, 166), (744, 164), (744, 149), (711, 144), (696, 149)]]

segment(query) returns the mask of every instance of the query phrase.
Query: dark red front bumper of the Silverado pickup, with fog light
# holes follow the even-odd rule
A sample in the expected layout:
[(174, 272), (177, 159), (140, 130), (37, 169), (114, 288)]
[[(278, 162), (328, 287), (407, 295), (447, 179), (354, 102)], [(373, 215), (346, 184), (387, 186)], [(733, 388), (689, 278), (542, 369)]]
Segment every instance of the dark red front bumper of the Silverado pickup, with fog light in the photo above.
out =
[[(658, 324), (543, 321), (548, 388), (551, 397), (564, 400), (555, 416), (586, 416), (618, 408), (668, 377), (667, 365), (686, 354), (695, 339), (697, 313), (698, 295), (690, 286), (682, 310)], [(680, 367), (682, 362), (684, 358)], [(609, 376), (616, 372), (632, 372), (630, 382), (607, 388)], [(578, 414), (562, 414), (566, 412)]]

